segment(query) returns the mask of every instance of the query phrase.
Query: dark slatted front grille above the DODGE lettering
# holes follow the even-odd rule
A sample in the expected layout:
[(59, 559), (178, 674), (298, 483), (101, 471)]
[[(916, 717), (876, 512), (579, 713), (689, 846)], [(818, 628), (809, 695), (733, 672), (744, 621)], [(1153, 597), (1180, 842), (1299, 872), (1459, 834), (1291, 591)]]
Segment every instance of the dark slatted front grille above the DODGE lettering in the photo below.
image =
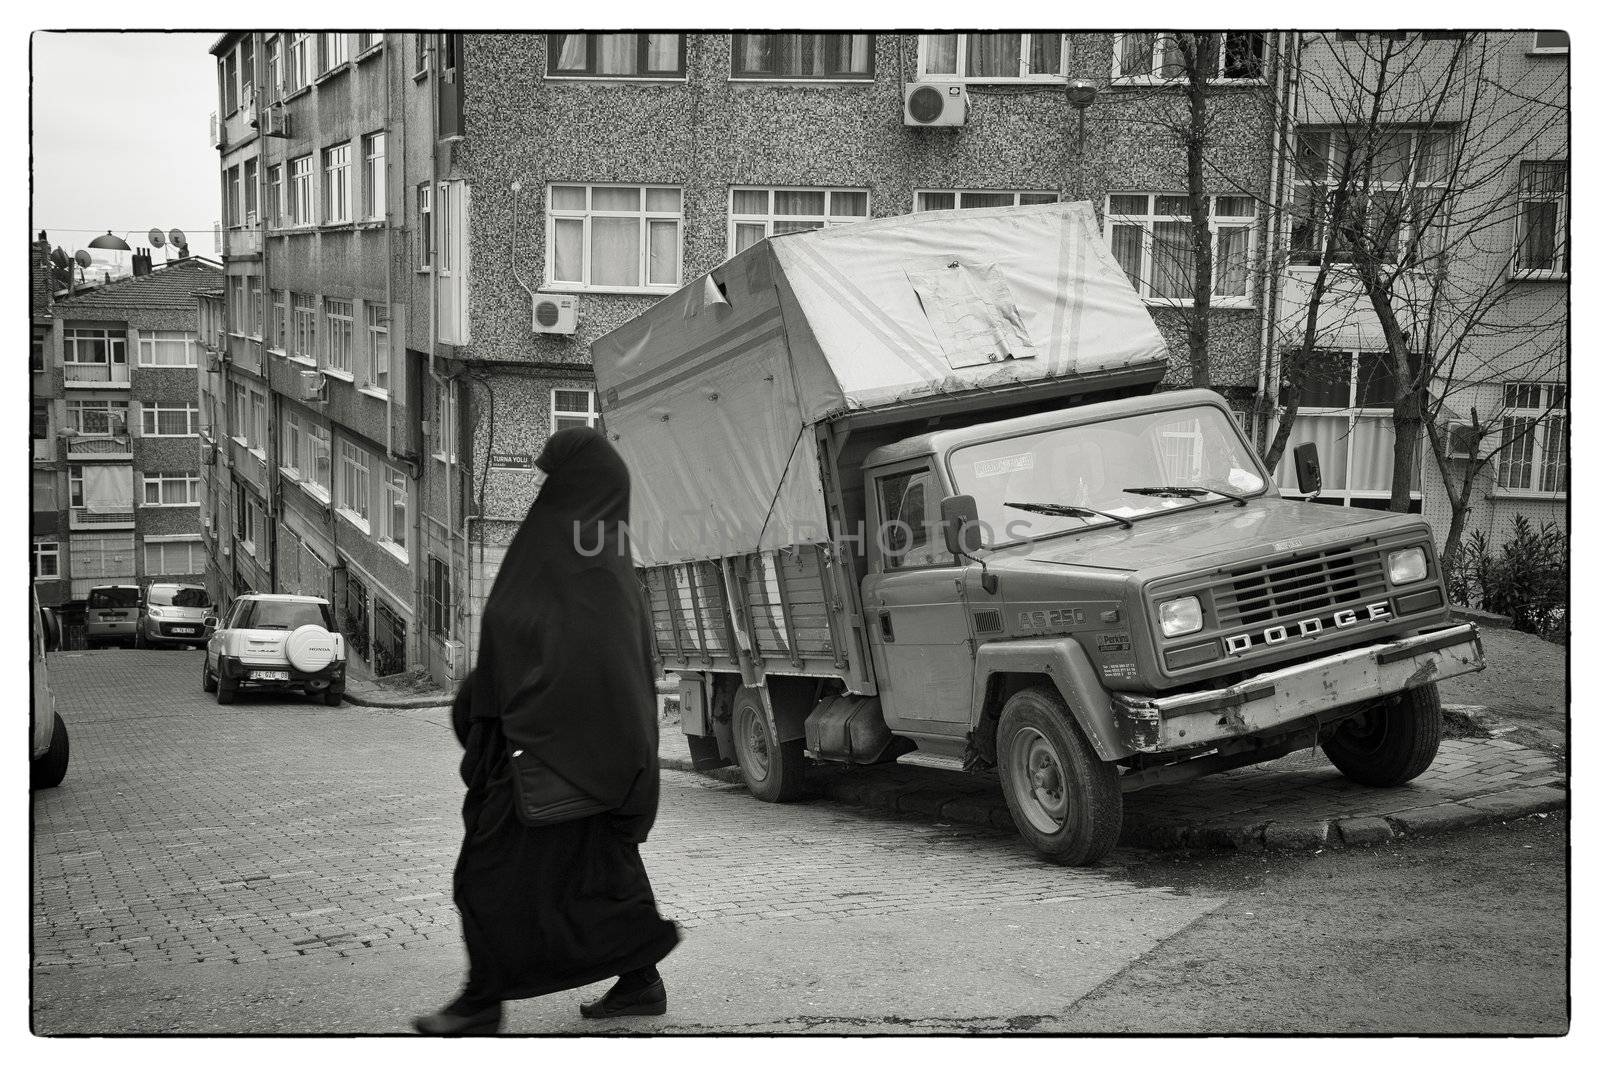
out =
[(1213, 593), (1218, 624), (1258, 625), (1381, 597), (1382, 555), (1336, 547), (1232, 571)]

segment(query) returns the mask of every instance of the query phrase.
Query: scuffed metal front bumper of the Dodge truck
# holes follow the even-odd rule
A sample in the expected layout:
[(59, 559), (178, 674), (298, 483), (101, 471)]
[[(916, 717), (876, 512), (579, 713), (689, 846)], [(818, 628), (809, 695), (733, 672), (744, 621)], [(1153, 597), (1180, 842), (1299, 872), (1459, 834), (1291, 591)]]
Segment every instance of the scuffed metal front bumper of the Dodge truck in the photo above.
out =
[(1483, 641), (1467, 622), (1269, 670), (1226, 689), (1162, 697), (1117, 693), (1112, 713), (1117, 734), (1133, 750), (1179, 752), (1474, 670), (1483, 670)]

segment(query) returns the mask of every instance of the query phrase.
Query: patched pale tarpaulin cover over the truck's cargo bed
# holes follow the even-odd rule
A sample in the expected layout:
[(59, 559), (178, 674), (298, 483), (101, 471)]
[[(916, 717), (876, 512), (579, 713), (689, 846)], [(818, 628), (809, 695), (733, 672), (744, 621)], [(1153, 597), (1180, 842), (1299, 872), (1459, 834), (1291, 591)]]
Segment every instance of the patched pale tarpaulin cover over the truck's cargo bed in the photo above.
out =
[(592, 355), (646, 566), (826, 541), (822, 419), (1166, 365), (1086, 203), (768, 238)]

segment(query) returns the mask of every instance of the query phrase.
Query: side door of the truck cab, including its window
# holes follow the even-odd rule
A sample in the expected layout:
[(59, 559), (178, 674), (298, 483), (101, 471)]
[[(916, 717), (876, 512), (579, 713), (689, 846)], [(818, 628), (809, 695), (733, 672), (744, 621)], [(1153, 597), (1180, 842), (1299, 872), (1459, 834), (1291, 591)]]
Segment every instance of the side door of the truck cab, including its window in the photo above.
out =
[(944, 549), (944, 490), (928, 461), (874, 472), (862, 609), (883, 718), (960, 737), (971, 726), (973, 645), (963, 568)]

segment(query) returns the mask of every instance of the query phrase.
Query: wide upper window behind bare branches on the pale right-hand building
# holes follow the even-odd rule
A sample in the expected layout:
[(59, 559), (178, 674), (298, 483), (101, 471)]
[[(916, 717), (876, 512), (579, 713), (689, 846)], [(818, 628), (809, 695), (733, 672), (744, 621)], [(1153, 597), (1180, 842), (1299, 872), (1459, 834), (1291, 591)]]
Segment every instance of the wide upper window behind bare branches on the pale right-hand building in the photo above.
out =
[[(1394, 262), (1402, 251), (1430, 256), (1443, 248), (1443, 222), (1435, 216), (1448, 184), (1450, 130), (1374, 126), (1352, 146), (1344, 130), (1302, 126), (1294, 142), (1291, 266), (1317, 266), (1323, 245), (1334, 262), (1358, 254)], [(1347, 194), (1344, 218), (1330, 234), (1341, 184)]]

